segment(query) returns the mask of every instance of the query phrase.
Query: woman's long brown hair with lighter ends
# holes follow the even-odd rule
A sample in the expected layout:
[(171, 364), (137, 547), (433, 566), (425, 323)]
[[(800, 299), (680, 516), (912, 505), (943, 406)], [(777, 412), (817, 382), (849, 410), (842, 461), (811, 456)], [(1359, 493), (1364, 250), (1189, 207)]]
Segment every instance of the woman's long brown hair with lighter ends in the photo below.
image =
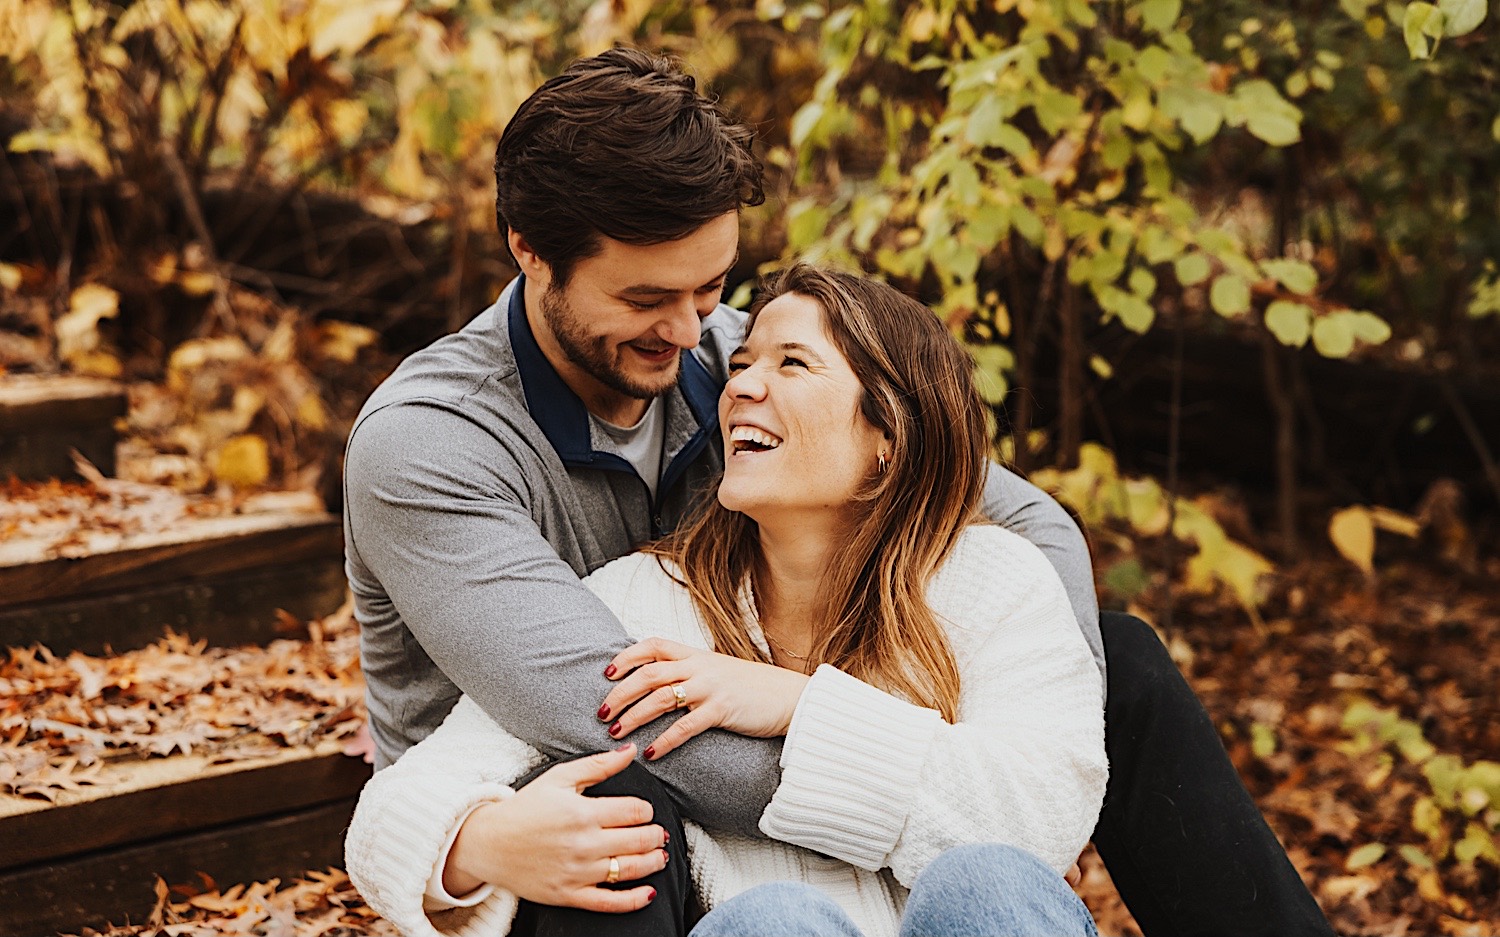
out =
[[(981, 520), (987, 427), (974, 364), (916, 300), (878, 280), (801, 264), (762, 289), (747, 334), (760, 309), (784, 294), (819, 304), (864, 387), (861, 411), (891, 448), (888, 469), (872, 463), (856, 495), (860, 520), (825, 579), (808, 663), (832, 664), (956, 721), (958, 667), (927, 604), (927, 583), (963, 528)], [(765, 661), (740, 606), (760, 564), (756, 523), (705, 501), (650, 549), (676, 564), (716, 651)]]

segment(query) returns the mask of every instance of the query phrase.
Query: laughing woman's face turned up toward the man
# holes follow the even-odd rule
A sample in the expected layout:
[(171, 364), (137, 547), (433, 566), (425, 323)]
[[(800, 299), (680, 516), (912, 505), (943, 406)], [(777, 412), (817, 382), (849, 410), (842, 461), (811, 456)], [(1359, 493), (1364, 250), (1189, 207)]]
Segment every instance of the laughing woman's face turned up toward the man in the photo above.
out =
[(718, 399), (718, 502), (760, 523), (778, 513), (800, 522), (818, 513), (849, 519), (886, 445), (860, 411), (861, 396), (822, 307), (798, 294), (768, 303), (729, 357)]

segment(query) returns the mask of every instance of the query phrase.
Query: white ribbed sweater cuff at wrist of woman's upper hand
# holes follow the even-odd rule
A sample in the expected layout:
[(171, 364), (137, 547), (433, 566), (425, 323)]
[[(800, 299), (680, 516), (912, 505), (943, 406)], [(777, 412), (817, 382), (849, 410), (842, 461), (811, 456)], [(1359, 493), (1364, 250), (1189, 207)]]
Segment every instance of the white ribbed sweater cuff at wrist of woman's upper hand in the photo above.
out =
[(864, 870), (884, 868), (940, 724), (936, 711), (824, 664), (792, 715), (782, 784), (760, 816), (760, 832)]

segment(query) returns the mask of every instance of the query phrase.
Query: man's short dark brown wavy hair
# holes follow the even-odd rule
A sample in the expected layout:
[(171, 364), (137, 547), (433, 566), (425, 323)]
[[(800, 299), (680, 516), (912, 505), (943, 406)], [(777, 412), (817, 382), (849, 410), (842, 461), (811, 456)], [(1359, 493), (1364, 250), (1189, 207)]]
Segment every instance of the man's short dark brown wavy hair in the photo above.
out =
[(602, 235), (660, 244), (765, 201), (752, 139), (670, 58), (627, 48), (580, 58), (506, 124), (495, 220), (561, 286)]

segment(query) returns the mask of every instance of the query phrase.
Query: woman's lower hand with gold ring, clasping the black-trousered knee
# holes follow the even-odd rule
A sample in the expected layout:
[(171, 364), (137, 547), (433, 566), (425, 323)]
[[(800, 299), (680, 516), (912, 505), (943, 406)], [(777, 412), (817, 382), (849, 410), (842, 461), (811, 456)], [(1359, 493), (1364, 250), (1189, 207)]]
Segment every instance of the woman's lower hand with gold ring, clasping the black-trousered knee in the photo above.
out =
[(471, 813), (459, 829), (442, 888), (464, 895), (486, 882), (520, 898), (591, 912), (634, 912), (656, 898), (642, 885), (600, 888), (609, 861), (620, 882), (634, 882), (666, 867), (666, 831), (651, 823), (639, 798), (586, 798), (584, 790), (624, 771), (634, 745), (548, 769), (513, 796)]

